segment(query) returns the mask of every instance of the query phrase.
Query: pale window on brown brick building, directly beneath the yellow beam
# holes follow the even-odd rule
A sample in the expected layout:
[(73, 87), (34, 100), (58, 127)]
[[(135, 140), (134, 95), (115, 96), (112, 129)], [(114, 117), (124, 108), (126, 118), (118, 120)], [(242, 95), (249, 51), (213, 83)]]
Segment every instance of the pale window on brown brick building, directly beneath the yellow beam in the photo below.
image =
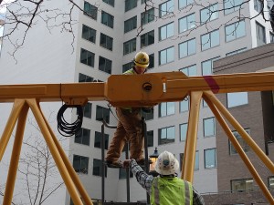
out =
[(227, 108), (248, 104), (248, 92), (227, 93)]

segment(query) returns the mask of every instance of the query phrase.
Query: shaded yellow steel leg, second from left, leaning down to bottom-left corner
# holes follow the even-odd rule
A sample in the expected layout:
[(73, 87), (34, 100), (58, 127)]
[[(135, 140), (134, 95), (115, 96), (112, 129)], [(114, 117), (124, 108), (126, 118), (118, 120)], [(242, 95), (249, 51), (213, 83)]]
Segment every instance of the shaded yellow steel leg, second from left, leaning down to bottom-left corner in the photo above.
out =
[(19, 115), (17, 128), (16, 128), (16, 138), (14, 141), (13, 152), (11, 156), (11, 161), (9, 164), (8, 175), (5, 184), (5, 195), (3, 204), (11, 204), (13, 199), (13, 192), (15, 189), (16, 183), (16, 172), (18, 169), (18, 162), (20, 157), (20, 152), (23, 144), (23, 136), (26, 125), (26, 116), (27, 116), (28, 107), (24, 104), (22, 111)]

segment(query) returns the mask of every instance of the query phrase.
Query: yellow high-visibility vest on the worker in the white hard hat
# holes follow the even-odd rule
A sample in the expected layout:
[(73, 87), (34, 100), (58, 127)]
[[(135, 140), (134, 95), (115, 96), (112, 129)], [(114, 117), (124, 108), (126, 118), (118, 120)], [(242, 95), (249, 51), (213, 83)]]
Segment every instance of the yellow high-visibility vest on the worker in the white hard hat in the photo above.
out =
[(193, 188), (190, 182), (174, 178), (155, 178), (151, 205), (192, 205)]

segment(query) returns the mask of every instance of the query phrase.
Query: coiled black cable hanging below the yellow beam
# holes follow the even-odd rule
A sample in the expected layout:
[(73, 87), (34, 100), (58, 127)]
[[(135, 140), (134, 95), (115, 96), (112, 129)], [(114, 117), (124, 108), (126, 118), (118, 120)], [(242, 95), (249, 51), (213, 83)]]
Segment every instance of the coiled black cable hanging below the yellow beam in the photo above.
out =
[[(78, 118), (72, 123), (68, 123), (66, 119), (64, 118), (64, 112), (66, 111), (67, 108), (77, 108)], [(73, 135), (76, 135), (82, 127), (83, 108), (77, 105), (68, 106), (64, 104), (58, 111), (57, 121), (58, 121), (58, 132), (62, 136), (71, 137)]]

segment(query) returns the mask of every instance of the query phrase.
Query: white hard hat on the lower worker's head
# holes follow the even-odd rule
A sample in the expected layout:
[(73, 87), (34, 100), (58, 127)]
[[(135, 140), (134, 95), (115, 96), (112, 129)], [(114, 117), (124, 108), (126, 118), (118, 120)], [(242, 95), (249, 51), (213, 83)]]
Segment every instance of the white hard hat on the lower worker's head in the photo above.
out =
[(179, 162), (174, 155), (168, 151), (163, 151), (155, 164), (155, 171), (161, 175), (175, 174), (179, 169)]

